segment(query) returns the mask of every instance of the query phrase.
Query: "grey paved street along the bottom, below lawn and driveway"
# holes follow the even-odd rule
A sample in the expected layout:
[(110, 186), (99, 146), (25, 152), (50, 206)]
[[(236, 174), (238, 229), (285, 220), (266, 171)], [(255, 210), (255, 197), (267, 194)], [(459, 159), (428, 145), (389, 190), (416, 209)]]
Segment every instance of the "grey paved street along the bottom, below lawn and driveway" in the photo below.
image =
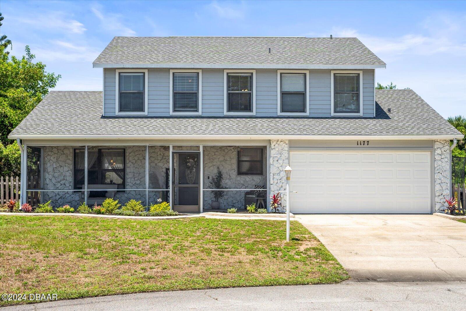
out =
[(62, 300), (2, 311), (465, 310), (466, 283), (355, 283), (227, 288)]

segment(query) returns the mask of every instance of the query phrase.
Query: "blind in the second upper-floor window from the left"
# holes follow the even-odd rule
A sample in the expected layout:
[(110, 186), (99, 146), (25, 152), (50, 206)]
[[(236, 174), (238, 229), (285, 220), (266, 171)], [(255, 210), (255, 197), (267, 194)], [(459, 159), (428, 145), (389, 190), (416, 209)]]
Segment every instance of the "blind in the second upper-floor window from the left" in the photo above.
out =
[(198, 111), (199, 76), (173, 73), (173, 111)]

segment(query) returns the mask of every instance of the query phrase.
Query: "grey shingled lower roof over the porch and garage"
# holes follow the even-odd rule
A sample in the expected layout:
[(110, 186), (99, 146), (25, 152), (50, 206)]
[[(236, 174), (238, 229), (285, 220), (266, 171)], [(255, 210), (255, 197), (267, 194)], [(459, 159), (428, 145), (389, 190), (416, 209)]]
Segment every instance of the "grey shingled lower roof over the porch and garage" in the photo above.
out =
[[(376, 90), (376, 117), (102, 117), (101, 91), (51, 91), (15, 138), (462, 138), (412, 90)], [(388, 112), (391, 108), (391, 112)]]

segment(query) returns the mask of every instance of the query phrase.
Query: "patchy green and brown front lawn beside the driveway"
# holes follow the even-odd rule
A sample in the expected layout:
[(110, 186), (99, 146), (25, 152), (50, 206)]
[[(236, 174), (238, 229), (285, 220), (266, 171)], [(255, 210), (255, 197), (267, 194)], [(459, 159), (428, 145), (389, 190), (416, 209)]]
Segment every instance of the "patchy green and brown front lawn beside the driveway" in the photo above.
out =
[(0, 233), (0, 293), (71, 299), (349, 278), (297, 221), (288, 243), (285, 221), (273, 220), (1, 216)]

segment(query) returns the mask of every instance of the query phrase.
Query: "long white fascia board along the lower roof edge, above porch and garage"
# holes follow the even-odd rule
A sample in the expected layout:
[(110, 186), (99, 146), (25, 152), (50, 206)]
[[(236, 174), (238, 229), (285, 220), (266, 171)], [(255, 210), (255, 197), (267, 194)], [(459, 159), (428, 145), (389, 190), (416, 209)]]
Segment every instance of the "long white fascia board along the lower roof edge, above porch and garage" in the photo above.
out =
[(461, 139), (461, 135), (10, 135), (9, 139)]

